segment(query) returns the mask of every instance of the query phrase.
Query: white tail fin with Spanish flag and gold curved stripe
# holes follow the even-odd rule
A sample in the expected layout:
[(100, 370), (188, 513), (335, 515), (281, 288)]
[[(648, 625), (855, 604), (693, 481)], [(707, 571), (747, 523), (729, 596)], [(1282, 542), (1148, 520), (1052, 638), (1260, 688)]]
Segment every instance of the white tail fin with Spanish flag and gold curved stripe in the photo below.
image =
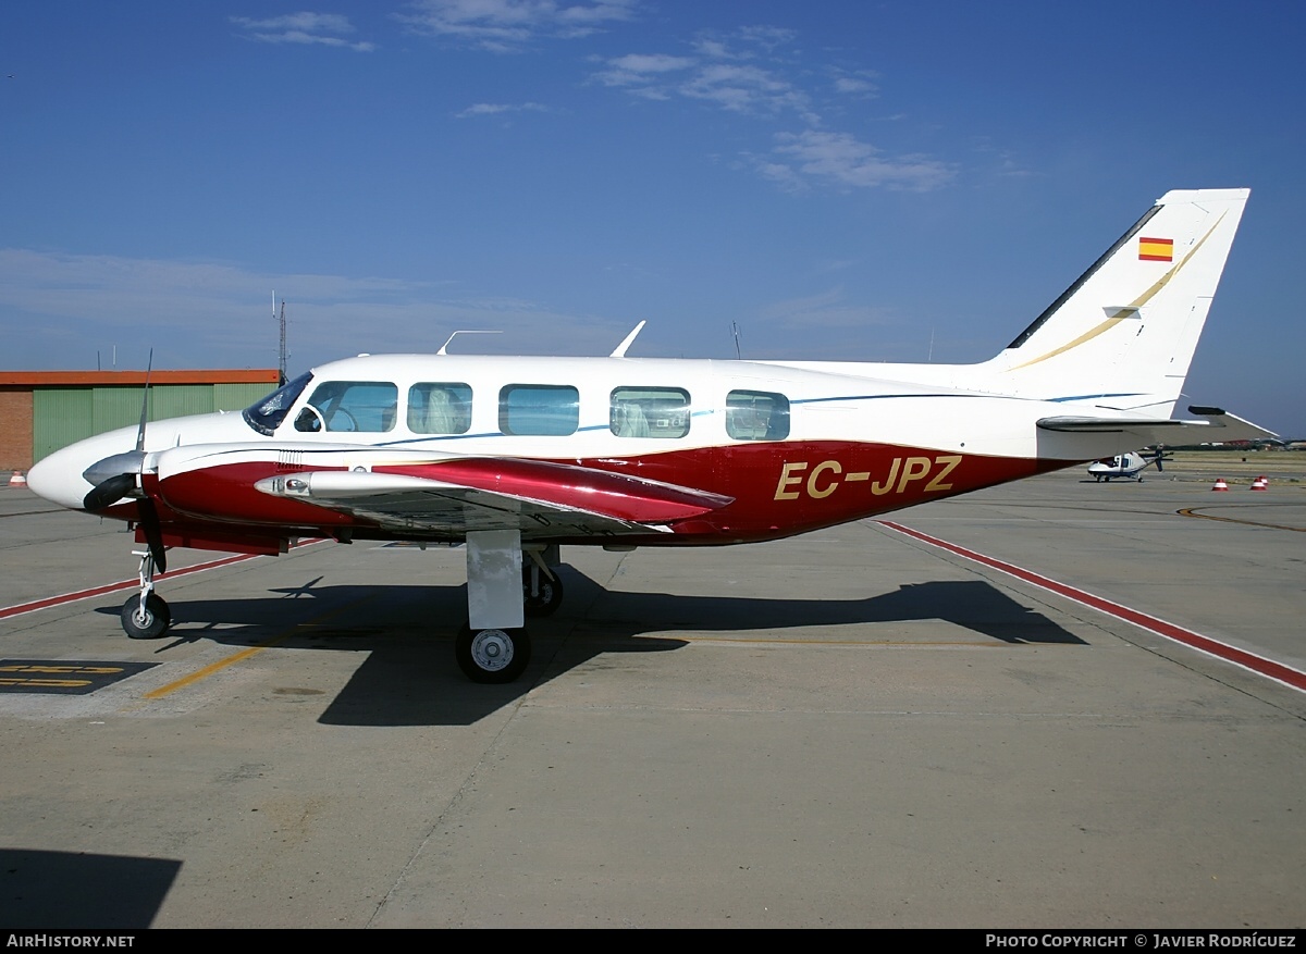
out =
[(987, 363), (1002, 392), (1169, 416), (1250, 189), (1168, 192)]

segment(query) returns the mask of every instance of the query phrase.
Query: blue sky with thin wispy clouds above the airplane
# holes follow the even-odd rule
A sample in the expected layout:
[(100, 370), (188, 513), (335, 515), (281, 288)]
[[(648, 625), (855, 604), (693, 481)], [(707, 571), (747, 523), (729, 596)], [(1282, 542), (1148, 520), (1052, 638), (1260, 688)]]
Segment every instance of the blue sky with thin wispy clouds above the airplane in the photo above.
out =
[(976, 362), (1171, 188), (1251, 202), (1186, 393), (1306, 436), (1306, 4), (0, 7), (5, 369)]

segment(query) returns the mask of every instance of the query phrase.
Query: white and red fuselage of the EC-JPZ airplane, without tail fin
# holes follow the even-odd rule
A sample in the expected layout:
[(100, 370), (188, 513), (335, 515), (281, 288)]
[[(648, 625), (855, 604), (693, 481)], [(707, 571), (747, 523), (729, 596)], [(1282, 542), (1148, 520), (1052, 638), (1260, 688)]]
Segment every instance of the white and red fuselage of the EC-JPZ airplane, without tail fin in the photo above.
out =
[[(1062, 403), (868, 377), (868, 365), (629, 358), (358, 356), (323, 365), (244, 412), (150, 423), (142, 489), (168, 546), (277, 552), (304, 535), (457, 539), (421, 518), (376, 521), (269, 496), (260, 480), (367, 471), (457, 482), (584, 508), (619, 483), (518, 474), (547, 461), (729, 499), (658, 519), (628, 544), (788, 536), (1092, 459), (1104, 440), (1038, 432)], [(849, 373), (855, 368), (861, 373)], [(137, 428), (65, 448), (30, 485), (81, 508), (97, 461)], [(518, 469), (520, 470), (520, 469)], [(622, 512), (640, 519), (637, 495)], [(665, 508), (663, 508), (665, 509)], [(124, 497), (106, 512), (135, 521)], [(679, 512), (677, 512), (679, 513)], [(524, 539), (593, 543), (549, 526)]]

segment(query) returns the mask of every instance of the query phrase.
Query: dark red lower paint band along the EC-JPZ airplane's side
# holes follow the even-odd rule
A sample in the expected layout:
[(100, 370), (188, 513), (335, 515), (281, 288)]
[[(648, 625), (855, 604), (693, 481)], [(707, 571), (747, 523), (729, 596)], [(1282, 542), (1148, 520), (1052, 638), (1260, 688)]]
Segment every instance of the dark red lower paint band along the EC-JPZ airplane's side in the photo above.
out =
[[(276, 453), (269, 450), (263, 461), (219, 463), (161, 479), (157, 502), (163, 529), (199, 522), (268, 527), (272, 535), (298, 536), (315, 529), (334, 532), (349, 527), (376, 539), (418, 536), (423, 530), (430, 539), (444, 539), (461, 531), (456, 523), (441, 525), (439, 519), (413, 526), (402, 514), (387, 526), (384, 517), (366, 515), (366, 508), (355, 517), (346, 505), (333, 506), (329, 500), (319, 505), (263, 493), (256, 489), (259, 480), (294, 472), (274, 459)], [(381, 463), (376, 470), (614, 519), (669, 523), (671, 534), (650, 527), (646, 540), (692, 546), (791, 536), (1071, 463), (857, 441), (756, 441), (629, 458), (563, 462), (482, 457)], [(295, 469), (310, 470), (307, 465)], [(135, 510), (124, 513), (124, 518), (132, 515)], [(556, 539), (572, 538), (560, 534)]]

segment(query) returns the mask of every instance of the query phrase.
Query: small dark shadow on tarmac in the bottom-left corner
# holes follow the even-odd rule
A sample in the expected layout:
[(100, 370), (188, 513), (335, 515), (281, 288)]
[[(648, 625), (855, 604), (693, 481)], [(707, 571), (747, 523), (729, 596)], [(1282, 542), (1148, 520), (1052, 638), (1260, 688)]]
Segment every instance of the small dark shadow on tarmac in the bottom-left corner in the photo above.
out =
[(180, 869), (157, 857), (0, 848), (0, 924), (148, 928)]

